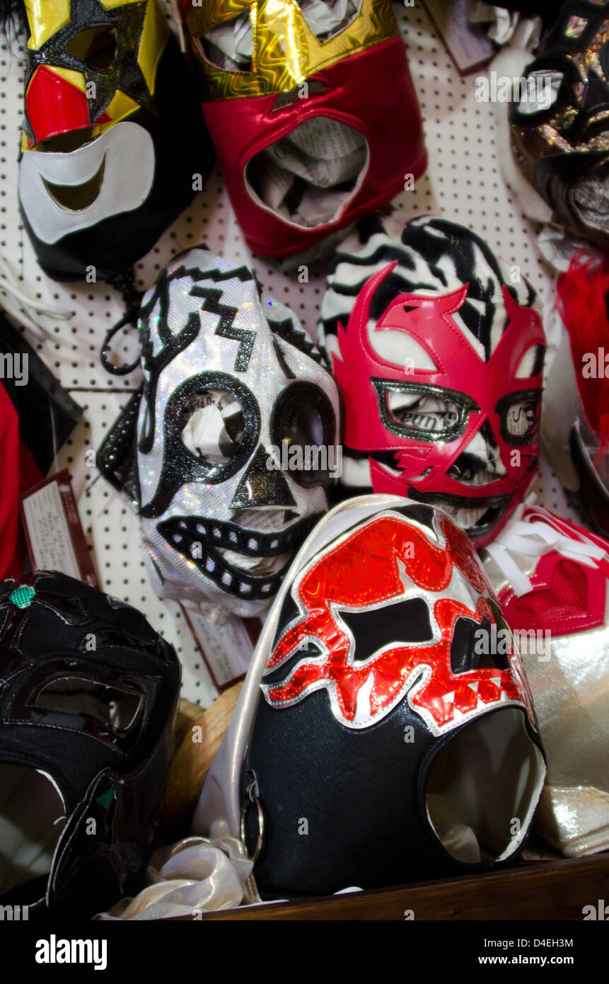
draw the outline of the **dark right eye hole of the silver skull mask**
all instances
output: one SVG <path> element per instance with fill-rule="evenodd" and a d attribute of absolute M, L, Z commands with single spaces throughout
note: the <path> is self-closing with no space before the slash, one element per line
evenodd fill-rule
<path fill-rule="evenodd" d="M 274 406 L 271 432 L 281 467 L 299 485 L 327 484 L 335 471 L 335 412 L 312 383 L 288 386 Z"/>

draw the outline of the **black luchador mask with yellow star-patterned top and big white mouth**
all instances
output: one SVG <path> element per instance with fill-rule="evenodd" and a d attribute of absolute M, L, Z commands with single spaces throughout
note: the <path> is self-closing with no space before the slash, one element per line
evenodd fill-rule
<path fill-rule="evenodd" d="M 50 277 L 121 273 L 212 166 L 188 66 L 156 0 L 35 0 L 28 18 L 19 196 L 33 247 Z"/>

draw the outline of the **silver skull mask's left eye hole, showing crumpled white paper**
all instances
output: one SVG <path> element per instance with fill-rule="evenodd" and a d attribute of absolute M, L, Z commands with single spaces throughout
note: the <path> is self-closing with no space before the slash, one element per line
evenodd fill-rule
<path fill-rule="evenodd" d="M 243 442 L 241 403 L 226 390 L 202 390 L 190 397 L 180 415 L 182 441 L 197 461 L 226 464 Z"/>

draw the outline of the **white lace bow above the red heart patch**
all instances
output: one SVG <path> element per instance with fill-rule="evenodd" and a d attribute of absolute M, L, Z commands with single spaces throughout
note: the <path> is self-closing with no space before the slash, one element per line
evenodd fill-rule
<path fill-rule="evenodd" d="M 527 594 L 532 590 L 532 584 L 525 574 L 520 571 L 518 561 L 514 554 L 525 557 L 542 557 L 544 554 L 555 550 L 570 560 L 578 561 L 586 567 L 596 567 L 596 562 L 606 556 L 606 551 L 599 547 L 587 537 L 576 540 L 566 533 L 557 529 L 553 525 L 553 517 L 547 510 L 540 506 L 535 507 L 535 517 L 547 518 L 547 522 L 534 522 L 522 520 L 524 510 L 531 507 L 535 501 L 535 496 L 520 503 L 518 509 L 505 529 L 500 533 L 494 543 L 490 543 L 485 550 L 493 558 L 502 574 L 508 579 L 518 597 Z M 583 533 L 578 533 L 583 537 Z"/>

